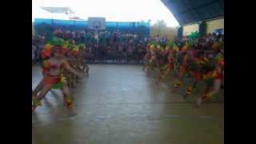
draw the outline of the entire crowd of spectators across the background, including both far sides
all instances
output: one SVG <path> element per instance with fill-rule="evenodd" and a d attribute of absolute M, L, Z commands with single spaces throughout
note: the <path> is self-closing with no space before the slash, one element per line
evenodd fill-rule
<path fill-rule="evenodd" d="M 54 30 L 53 34 L 65 40 L 73 39 L 76 43 L 85 44 L 88 63 L 142 63 L 149 42 L 158 42 L 163 47 L 169 42 L 166 37 L 140 38 L 137 34 L 122 33 L 118 30 L 95 33 L 94 31 L 63 31 L 58 29 Z M 190 41 L 190 38 L 174 39 L 177 46 L 181 46 L 187 41 Z M 216 41 L 224 42 L 224 35 L 208 34 L 193 40 L 197 47 L 210 47 L 212 42 Z M 32 38 L 33 62 L 40 62 L 40 52 L 45 42 L 46 38 L 43 36 Z"/>

